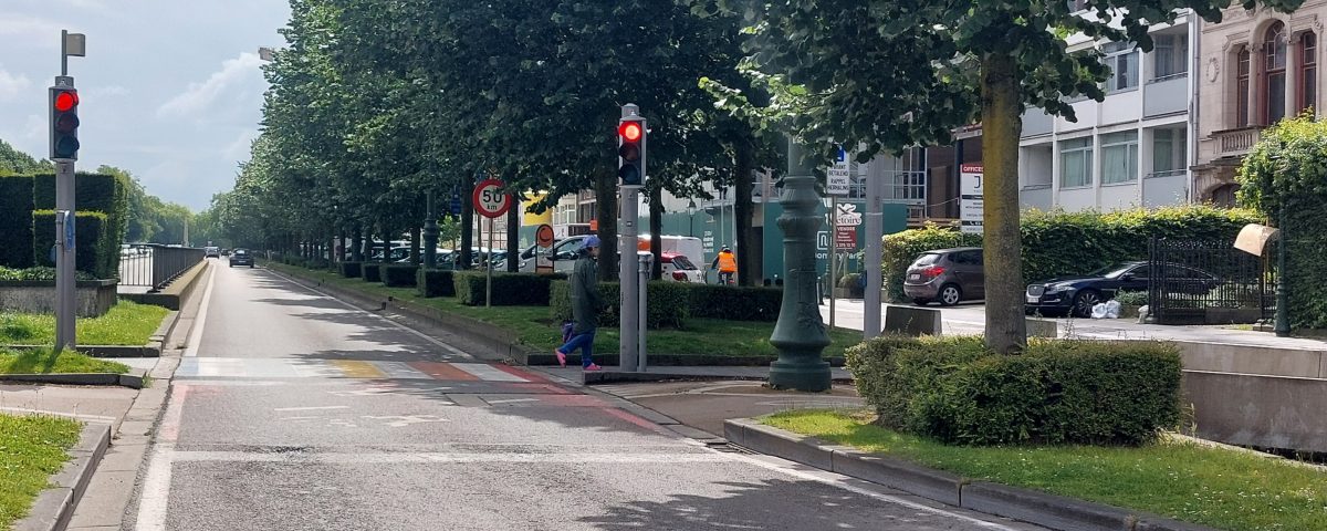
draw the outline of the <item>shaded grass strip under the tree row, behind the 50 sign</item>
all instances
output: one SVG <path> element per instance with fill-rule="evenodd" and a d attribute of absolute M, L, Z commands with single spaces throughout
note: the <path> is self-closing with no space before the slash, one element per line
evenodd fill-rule
<path fill-rule="evenodd" d="M 425 299 L 414 288 L 387 288 L 380 283 L 366 283 L 362 279 L 346 279 L 330 271 L 296 268 L 271 262 L 265 267 L 316 279 L 324 284 L 409 300 L 494 324 L 515 332 L 520 344 L 536 350 L 552 350 L 561 344 L 561 332 L 553 324 L 548 307 L 467 307 L 460 304 L 456 297 Z M 774 357 L 778 353 L 770 344 L 770 333 L 772 332 L 774 323 L 690 317 L 682 331 L 650 331 L 648 339 L 650 352 L 661 354 Z M 843 357 L 844 348 L 861 342 L 861 331 L 833 328 L 829 332 L 829 340 L 831 344 L 825 348 L 824 356 Z M 594 352 L 617 352 L 618 341 L 617 328 L 601 328 L 594 336 Z"/>

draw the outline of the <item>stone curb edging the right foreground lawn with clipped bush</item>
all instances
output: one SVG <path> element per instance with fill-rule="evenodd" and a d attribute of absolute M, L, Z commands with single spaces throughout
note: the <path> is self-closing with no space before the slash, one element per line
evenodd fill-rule
<path fill-rule="evenodd" d="M 723 422 L 736 446 L 816 469 L 882 485 L 945 504 L 1013 518 L 1063 531 L 1216 531 L 1104 503 L 1010 487 L 918 466 L 906 461 L 825 443 L 815 437 L 750 418 Z"/>

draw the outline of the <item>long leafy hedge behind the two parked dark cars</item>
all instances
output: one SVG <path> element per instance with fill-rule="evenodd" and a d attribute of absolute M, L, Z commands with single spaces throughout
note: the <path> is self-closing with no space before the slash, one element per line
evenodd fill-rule
<path fill-rule="evenodd" d="M 1251 210 L 1186 204 L 1109 212 L 1023 212 L 1023 281 L 1083 275 L 1120 262 L 1147 260 L 1153 238 L 1234 243 Z M 885 236 L 882 269 L 893 301 L 904 301 L 904 275 L 917 255 L 938 248 L 981 247 L 981 235 L 928 224 Z"/>

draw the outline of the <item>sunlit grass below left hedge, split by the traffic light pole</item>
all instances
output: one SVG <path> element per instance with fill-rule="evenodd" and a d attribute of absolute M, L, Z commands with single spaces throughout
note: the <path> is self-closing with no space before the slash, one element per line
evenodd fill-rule
<path fill-rule="evenodd" d="M 169 313 L 166 308 L 119 301 L 101 317 L 78 319 L 80 345 L 142 345 Z M 53 345 L 56 316 L 0 313 L 0 345 Z"/>

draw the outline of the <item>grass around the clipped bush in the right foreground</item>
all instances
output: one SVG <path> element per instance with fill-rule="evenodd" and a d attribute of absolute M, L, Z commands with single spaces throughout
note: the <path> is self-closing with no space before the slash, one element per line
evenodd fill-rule
<path fill-rule="evenodd" d="M 799 410 L 763 421 L 973 479 L 1153 512 L 1222 530 L 1327 530 L 1327 471 L 1164 438 L 1143 447 L 947 446 L 865 413 Z"/>

